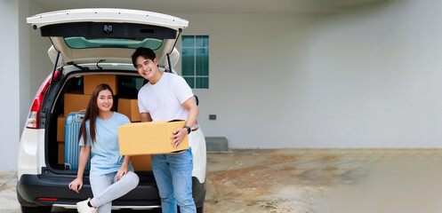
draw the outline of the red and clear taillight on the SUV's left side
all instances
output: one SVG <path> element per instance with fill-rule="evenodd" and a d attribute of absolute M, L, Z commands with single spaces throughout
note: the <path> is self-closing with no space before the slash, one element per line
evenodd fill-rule
<path fill-rule="evenodd" d="M 57 78 L 59 76 L 59 70 L 55 70 L 55 74 L 53 78 Z M 28 129 L 38 129 L 40 122 L 40 110 L 42 109 L 44 92 L 49 87 L 49 83 L 51 83 L 52 73 L 46 77 L 43 84 L 40 86 L 40 89 L 36 92 L 36 97 L 32 102 L 31 110 L 28 115 L 28 121 L 26 122 L 26 127 Z"/>

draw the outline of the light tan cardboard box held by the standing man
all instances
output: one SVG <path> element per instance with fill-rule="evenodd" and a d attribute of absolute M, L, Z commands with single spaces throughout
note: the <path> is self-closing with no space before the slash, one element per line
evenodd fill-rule
<path fill-rule="evenodd" d="M 172 146 L 173 130 L 182 128 L 185 121 L 133 122 L 118 127 L 121 155 L 181 153 L 189 149 L 186 136 L 181 145 Z"/>

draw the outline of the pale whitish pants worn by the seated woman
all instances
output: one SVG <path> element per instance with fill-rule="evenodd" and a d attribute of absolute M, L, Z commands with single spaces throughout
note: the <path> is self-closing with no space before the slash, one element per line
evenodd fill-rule
<path fill-rule="evenodd" d="M 117 181 L 117 172 L 95 177 L 91 180 L 92 203 L 98 213 L 110 213 L 112 201 L 129 193 L 138 185 L 140 178 L 133 171 L 127 172 Z"/>

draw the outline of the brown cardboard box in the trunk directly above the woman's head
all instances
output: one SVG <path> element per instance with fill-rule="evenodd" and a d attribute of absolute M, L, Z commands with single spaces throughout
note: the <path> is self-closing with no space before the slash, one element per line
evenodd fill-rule
<path fill-rule="evenodd" d="M 117 95 L 117 75 L 84 75 L 83 80 L 85 95 L 92 95 L 92 91 L 101 83 L 108 84 Z"/>

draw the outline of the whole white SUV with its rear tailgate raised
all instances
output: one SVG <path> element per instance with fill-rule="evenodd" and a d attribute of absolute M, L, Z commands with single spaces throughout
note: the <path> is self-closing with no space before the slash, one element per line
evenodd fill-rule
<path fill-rule="evenodd" d="M 28 24 L 40 28 L 41 35 L 51 40 L 48 53 L 54 68 L 36 92 L 20 138 L 17 197 L 22 212 L 51 212 L 52 206 L 75 208 L 77 201 L 92 197 L 92 191 L 87 170 L 81 192 L 68 189 L 68 183 L 76 178 L 76 169 L 65 166 L 64 156 L 69 150 L 63 148 L 64 121 L 69 113 L 85 108 L 86 77 L 93 76 L 98 79 L 95 83 L 103 83 L 110 76 L 116 86 L 115 106 L 117 111 L 118 107 L 123 110 L 118 101 L 129 99 L 136 103 L 137 93 L 145 83 L 132 65 L 133 51 L 149 47 L 156 51 L 160 69 L 176 74 L 173 66 L 179 52 L 174 45 L 189 22 L 156 12 L 78 9 L 37 14 L 28 18 Z M 137 113 L 132 110 L 134 117 Z M 197 211 L 202 212 L 205 137 L 197 124 L 191 134 L 193 196 Z M 140 184 L 113 201 L 113 209 L 161 207 L 149 158 L 144 159 L 146 162 L 138 162 L 138 167 L 133 162 Z"/>

